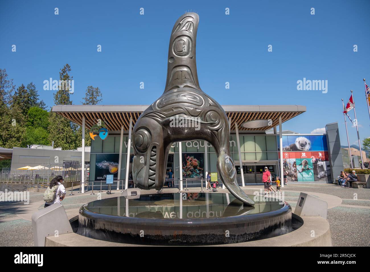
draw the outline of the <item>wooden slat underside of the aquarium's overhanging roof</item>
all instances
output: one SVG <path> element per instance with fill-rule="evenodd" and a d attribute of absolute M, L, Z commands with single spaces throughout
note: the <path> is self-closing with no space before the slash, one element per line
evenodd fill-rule
<path fill-rule="evenodd" d="M 235 123 L 238 123 L 239 131 L 265 131 L 272 129 L 279 125 L 279 117 L 282 117 L 282 122 L 286 122 L 289 119 L 299 115 L 302 112 L 226 112 L 226 115 L 231 117 L 231 130 L 235 130 Z M 120 131 L 121 126 L 124 130 L 128 130 L 130 117 L 132 117 L 132 123 L 135 125 L 141 112 L 58 112 L 59 115 L 71 120 L 72 122 L 82 126 L 82 117 L 85 116 L 85 127 L 86 129 L 91 128 L 96 124 L 98 119 L 105 122 L 108 130 Z M 259 128 L 245 128 L 240 126 L 242 123 L 260 119 L 271 119 L 272 125 Z"/>

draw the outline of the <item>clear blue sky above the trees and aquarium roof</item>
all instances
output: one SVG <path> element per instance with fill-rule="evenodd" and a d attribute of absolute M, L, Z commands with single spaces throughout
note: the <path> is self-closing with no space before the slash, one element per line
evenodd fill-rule
<path fill-rule="evenodd" d="M 196 59 L 204 92 L 221 105 L 304 105 L 307 112 L 283 129 L 310 133 L 339 122 L 346 145 L 341 99 L 346 103 L 351 89 L 360 138 L 370 136 L 362 81 L 370 83 L 369 7 L 368 0 L 1 0 L 0 67 L 16 86 L 34 82 L 48 106 L 53 91 L 43 90 L 43 81 L 58 80 L 65 63 L 72 68 L 73 104 L 81 104 L 89 85 L 101 89 L 104 105 L 151 104 L 164 90 L 172 27 L 193 10 L 200 17 Z M 304 77 L 327 80 L 328 92 L 297 90 Z M 349 136 L 356 144 L 355 127 Z"/>

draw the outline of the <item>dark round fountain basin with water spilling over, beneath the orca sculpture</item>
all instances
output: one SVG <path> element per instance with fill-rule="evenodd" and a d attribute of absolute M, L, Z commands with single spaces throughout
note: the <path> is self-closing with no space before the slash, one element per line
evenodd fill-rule
<path fill-rule="evenodd" d="M 284 201 L 249 196 L 245 206 L 227 193 L 153 193 L 107 198 L 81 207 L 77 233 L 142 245 L 217 245 L 271 238 L 292 231 Z"/>

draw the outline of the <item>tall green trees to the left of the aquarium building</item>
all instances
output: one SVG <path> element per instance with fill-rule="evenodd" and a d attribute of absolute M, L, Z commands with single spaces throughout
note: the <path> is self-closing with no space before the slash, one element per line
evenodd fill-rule
<path fill-rule="evenodd" d="M 59 78 L 68 82 L 73 77 L 71 67 L 65 64 L 60 69 Z M 39 100 L 33 82 L 17 89 L 8 79 L 5 69 L 0 69 L 0 146 L 6 148 L 27 147 L 27 145 L 51 145 L 62 149 L 77 149 L 81 146 L 82 127 L 64 117 L 45 110 L 43 100 Z M 101 102 L 98 87 L 88 86 L 84 105 L 97 105 Z M 68 89 L 58 87 L 54 93 L 55 105 L 72 105 Z M 91 145 L 89 132 L 85 133 L 85 146 Z M 1 167 L 1 166 L 0 166 Z"/>

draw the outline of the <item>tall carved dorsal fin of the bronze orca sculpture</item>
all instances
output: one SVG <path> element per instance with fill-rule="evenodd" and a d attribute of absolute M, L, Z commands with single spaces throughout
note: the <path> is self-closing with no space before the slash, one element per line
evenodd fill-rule
<path fill-rule="evenodd" d="M 201 90 L 195 60 L 198 24 L 198 14 L 188 12 L 176 21 L 172 29 L 168 47 L 167 80 L 164 93 L 184 87 Z"/>

